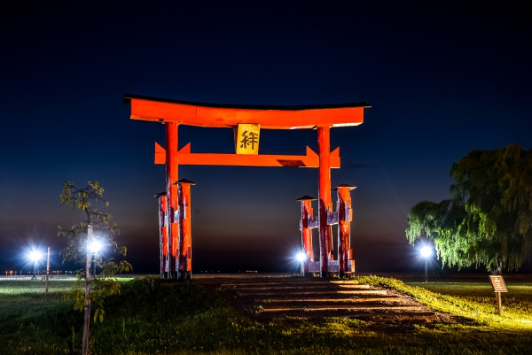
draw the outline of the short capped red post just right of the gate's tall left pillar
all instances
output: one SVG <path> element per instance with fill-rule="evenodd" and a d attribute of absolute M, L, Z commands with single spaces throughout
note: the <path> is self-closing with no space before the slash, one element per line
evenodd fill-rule
<path fill-rule="evenodd" d="M 191 213 L 191 185 L 196 182 L 181 179 L 176 181 L 178 195 L 178 225 L 179 225 L 179 253 L 178 279 L 192 279 L 192 213 Z"/>

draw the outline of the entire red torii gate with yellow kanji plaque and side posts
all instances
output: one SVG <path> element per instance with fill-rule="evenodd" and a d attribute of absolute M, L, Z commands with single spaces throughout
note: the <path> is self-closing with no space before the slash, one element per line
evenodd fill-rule
<path fill-rule="evenodd" d="M 131 105 L 131 120 L 160 122 L 166 128 L 166 150 L 155 143 L 155 164 L 166 165 L 166 191 L 160 200 L 160 274 L 188 279 L 192 276 L 192 234 L 190 186 L 178 180 L 179 165 L 213 166 L 301 166 L 317 167 L 318 218 L 312 218 L 312 197 L 301 197 L 301 240 L 307 254 L 306 273 L 327 277 L 333 271 L 348 273 L 354 268 L 349 250 L 350 185 L 338 187 L 337 211 L 332 212 L 331 168 L 340 167 L 340 148 L 331 152 L 331 127 L 358 126 L 364 122 L 367 103 L 320 104 L 298 106 L 201 104 L 157 97 L 124 95 Z M 236 154 L 192 153 L 190 143 L 177 150 L 177 127 L 231 127 L 235 130 Z M 304 156 L 259 155 L 260 129 L 317 130 L 318 153 L 307 146 Z M 242 138 L 240 141 L 239 138 Z M 242 143 L 242 144 L 239 144 Z M 347 224 L 346 224 L 347 223 Z M 332 224 L 339 225 L 338 270 L 331 267 Z M 319 228 L 319 268 L 314 263 L 310 228 Z M 347 233 L 347 234 L 346 234 Z M 310 239 L 309 239 L 310 238 Z M 347 242 L 346 242 L 347 240 Z M 351 255 L 349 255 L 351 254 Z"/>

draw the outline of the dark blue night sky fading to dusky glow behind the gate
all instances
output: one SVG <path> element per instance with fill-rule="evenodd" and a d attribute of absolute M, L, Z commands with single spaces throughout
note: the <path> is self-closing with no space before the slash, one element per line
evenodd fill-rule
<path fill-rule="evenodd" d="M 153 196 L 164 190 L 165 169 L 153 165 L 153 145 L 164 145 L 164 126 L 129 120 L 124 93 L 211 104 L 371 104 L 364 124 L 331 131 L 341 157 L 332 186 L 357 187 L 351 243 L 361 271 L 419 269 L 406 216 L 421 200 L 450 197 L 450 166 L 469 150 L 532 148 L 524 7 L 70 3 L 0 9 L 1 274 L 23 267 L 33 244 L 51 246 L 59 267 L 66 239 L 57 226 L 82 217 L 59 205 L 65 181 L 99 181 L 127 259 L 137 272 L 158 273 Z M 310 129 L 261 133 L 262 154 L 317 151 Z M 189 142 L 192 152 L 234 152 L 229 128 L 180 127 L 179 147 Z M 180 166 L 179 178 L 197 182 L 194 272 L 296 270 L 295 199 L 317 197 L 317 169 Z"/>

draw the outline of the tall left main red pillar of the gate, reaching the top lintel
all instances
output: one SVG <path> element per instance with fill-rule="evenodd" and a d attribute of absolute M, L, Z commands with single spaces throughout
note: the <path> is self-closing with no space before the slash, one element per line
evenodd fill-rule
<path fill-rule="evenodd" d="M 168 218 L 168 277 L 176 272 L 177 251 L 177 226 L 175 225 L 174 212 L 177 208 L 177 186 L 173 185 L 178 180 L 177 175 L 177 125 L 166 123 L 166 191 L 167 191 L 167 218 Z"/>

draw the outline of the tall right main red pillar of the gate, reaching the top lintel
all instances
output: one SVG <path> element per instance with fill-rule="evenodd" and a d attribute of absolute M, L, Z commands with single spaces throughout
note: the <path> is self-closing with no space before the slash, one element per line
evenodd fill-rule
<path fill-rule="evenodd" d="M 332 229 L 331 226 L 327 225 L 327 211 L 332 212 L 330 133 L 331 127 L 317 127 L 317 153 L 319 155 L 317 201 L 321 277 L 328 276 L 329 259 L 332 251 Z"/>

